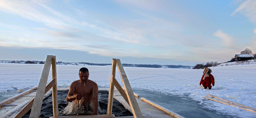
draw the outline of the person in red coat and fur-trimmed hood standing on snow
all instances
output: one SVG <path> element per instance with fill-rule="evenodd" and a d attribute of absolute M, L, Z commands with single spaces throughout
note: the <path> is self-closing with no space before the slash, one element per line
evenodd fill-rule
<path fill-rule="evenodd" d="M 204 75 L 201 78 L 200 84 L 199 85 L 203 85 L 204 89 L 207 89 L 207 87 L 209 89 L 212 89 L 212 86 L 214 86 L 214 78 L 212 76 L 212 74 L 210 74 L 212 72 L 211 69 L 209 68 L 204 68 Z M 212 84 L 212 86 L 211 86 Z"/>

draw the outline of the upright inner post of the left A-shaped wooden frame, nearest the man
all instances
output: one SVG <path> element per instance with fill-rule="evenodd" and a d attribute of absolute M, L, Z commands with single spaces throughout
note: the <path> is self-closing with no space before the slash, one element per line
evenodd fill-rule
<path fill-rule="evenodd" d="M 52 56 L 52 79 L 55 80 L 55 85 L 52 86 L 52 109 L 53 116 L 59 116 L 58 108 L 58 91 L 57 91 L 57 67 L 56 67 L 56 56 Z"/>

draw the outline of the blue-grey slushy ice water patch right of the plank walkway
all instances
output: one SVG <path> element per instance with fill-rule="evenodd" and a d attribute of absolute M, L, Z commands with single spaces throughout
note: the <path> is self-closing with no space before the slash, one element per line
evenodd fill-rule
<path fill-rule="evenodd" d="M 186 96 L 180 97 L 172 94 L 143 90 L 133 90 L 133 92 L 185 118 L 237 118 L 235 116 L 221 114 L 216 110 L 204 108 L 204 104 L 200 104 L 200 102 Z"/>

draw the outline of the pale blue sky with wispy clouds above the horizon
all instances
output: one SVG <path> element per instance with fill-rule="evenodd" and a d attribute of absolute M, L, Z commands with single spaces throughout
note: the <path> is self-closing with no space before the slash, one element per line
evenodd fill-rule
<path fill-rule="evenodd" d="M 256 53 L 256 0 L 0 0 L 0 60 L 191 65 Z"/>

